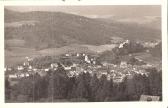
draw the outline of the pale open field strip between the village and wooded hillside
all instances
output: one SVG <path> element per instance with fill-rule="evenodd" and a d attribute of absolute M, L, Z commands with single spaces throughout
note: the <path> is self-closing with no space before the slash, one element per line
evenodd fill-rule
<path fill-rule="evenodd" d="M 59 56 L 65 53 L 95 53 L 89 50 L 88 47 L 81 45 L 70 45 L 61 48 L 48 48 L 44 50 L 35 50 L 33 48 L 10 47 L 10 50 L 5 50 L 5 65 L 13 66 L 25 60 L 25 57 L 39 57 L 39 56 Z"/>

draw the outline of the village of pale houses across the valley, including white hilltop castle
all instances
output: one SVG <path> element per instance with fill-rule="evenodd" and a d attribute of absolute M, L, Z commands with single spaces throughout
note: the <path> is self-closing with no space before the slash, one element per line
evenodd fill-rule
<path fill-rule="evenodd" d="M 119 48 L 122 48 L 126 43 L 129 43 L 129 41 L 126 40 L 121 43 Z M 56 71 L 58 63 L 60 63 L 68 77 L 78 77 L 81 73 L 88 72 L 91 76 L 96 74 L 100 78 L 102 75 L 105 75 L 107 76 L 107 80 L 112 79 L 115 83 L 121 83 L 125 77 L 132 78 L 136 74 L 148 76 L 149 73 L 145 69 L 154 67 L 154 65 L 144 63 L 139 58 L 134 59 L 141 65 L 129 64 L 128 60 L 125 59 L 121 60 L 119 64 L 107 61 L 99 62 L 97 58 L 97 55 L 87 53 L 66 53 L 60 56 L 60 61 L 52 62 L 48 67 L 36 68 L 32 65 L 33 58 L 25 57 L 25 61 L 16 67 L 6 66 L 5 76 L 11 82 L 12 80 L 29 77 L 37 73 L 43 77 L 49 71 Z"/>

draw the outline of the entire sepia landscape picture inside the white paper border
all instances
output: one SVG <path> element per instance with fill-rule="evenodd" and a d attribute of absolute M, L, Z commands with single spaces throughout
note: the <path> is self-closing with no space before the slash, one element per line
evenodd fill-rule
<path fill-rule="evenodd" d="M 5 103 L 162 101 L 161 5 L 4 6 Z"/>

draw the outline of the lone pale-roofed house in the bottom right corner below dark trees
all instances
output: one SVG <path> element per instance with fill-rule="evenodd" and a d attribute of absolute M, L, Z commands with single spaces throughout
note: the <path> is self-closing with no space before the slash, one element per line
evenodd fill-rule
<path fill-rule="evenodd" d="M 140 101 L 159 101 L 160 96 L 141 95 Z"/>

